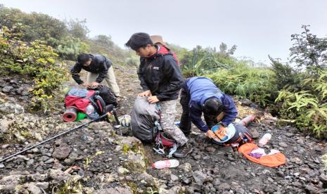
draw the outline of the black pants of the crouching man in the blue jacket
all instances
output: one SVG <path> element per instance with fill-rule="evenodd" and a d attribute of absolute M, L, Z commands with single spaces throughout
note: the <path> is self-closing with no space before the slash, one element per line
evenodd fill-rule
<path fill-rule="evenodd" d="M 184 82 L 181 87 L 181 108 L 183 112 L 181 113 L 181 123 L 179 124 L 179 129 L 183 131 L 184 134 L 188 135 L 191 133 L 191 118 L 190 118 L 190 109 L 188 103 L 190 102 L 191 95 L 188 92 L 187 88 L 188 79 Z M 207 123 L 207 127 L 211 129 L 214 124 L 217 123 L 217 117 L 205 115 L 205 122 Z"/>

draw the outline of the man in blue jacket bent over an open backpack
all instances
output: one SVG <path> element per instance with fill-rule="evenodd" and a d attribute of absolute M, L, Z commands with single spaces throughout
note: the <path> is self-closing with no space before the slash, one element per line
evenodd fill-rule
<path fill-rule="evenodd" d="M 211 128 L 218 122 L 226 127 L 238 114 L 233 99 L 217 88 L 207 77 L 191 77 L 181 87 L 181 122 L 179 129 L 191 133 L 191 122 L 210 138 L 215 138 Z M 205 122 L 201 119 L 204 113 Z"/>

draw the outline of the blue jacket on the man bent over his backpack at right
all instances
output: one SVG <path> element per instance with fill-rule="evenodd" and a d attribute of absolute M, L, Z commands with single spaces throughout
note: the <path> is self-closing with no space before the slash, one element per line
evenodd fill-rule
<path fill-rule="evenodd" d="M 222 124 L 230 124 L 237 115 L 236 106 L 233 99 L 224 94 L 211 79 L 207 77 L 192 77 L 188 79 L 187 91 L 189 93 L 190 102 L 188 103 L 191 121 L 198 129 L 203 132 L 207 132 L 208 127 L 201 119 L 203 112 L 203 104 L 208 98 L 217 98 L 222 101 L 224 106 L 223 111 L 225 113 Z"/>

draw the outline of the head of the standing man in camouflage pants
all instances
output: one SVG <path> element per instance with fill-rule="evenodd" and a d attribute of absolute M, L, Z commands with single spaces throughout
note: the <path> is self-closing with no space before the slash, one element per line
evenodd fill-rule
<path fill-rule="evenodd" d="M 153 54 L 153 42 L 150 35 L 144 32 L 135 33 L 127 41 L 125 46 L 132 48 L 138 56 L 148 57 Z"/>

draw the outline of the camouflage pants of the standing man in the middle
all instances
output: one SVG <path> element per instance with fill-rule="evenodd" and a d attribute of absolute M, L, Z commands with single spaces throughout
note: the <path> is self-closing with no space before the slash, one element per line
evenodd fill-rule
<path fill-rule="evenodd" d="M 160 125 L 162 131 L 170 138 L 173 138 L 174 141 L 177 141 L 179 145 L 184 145 L 188 141 L 188 138 L 186 138 L 181 129 L 174 124 L 175 115 L 177 113 L 177 100 L 162 101 L 159 102 L 159 104 L 161 106 Z"/>

